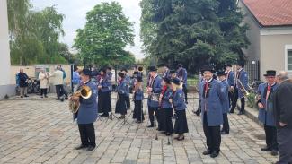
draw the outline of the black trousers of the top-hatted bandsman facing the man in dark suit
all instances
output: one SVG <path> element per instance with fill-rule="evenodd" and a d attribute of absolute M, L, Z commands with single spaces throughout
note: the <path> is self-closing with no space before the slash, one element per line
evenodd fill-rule
<path fill-rule="evenodd" d="M 277 129 L 275 126 L 264 125 L 266 144 L 268 148 L 278 151 Z"/>

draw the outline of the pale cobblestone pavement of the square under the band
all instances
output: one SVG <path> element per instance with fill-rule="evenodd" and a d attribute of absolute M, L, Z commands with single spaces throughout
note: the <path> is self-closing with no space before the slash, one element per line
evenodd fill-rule
<path fill-rule="evenodd" d="M 79 133 L 67 101 L 0 101 L 0 163 L 253 164 L 277 160 L 260 151 L 264 146 L 261 126 L 237 115 L 229 115 L 231 133 L 222 137 L 220 155 L 216 159 L 203 156 L 206 148 L 202 125 L 199 117 L 191 113 L 197 103 L 198 99 L 189 102 L 190 133 L 182 142 L 170 139 L 168 145 L 168 138 L 161 133 L 155 140 L 156 131 L 146 128 L 147 119 L 137 130 L 131 116 L 128 122 L 132 125 L 102 118 L 95 123 L 97 148 L 86 152 L 74 150 L 80 144 Z"/>

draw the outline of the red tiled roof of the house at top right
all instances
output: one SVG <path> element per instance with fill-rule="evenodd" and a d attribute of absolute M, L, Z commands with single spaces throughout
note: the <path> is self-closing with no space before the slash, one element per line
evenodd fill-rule
<path fill-rule="evenodd" d="M 292 0 L 242 0 L 261 26 L 292 26 Z"/>

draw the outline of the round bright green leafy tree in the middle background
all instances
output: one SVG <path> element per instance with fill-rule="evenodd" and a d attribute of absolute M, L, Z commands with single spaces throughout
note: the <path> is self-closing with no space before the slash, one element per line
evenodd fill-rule
<path fill-rule="evenodd" d="M 134 45 L 133 23 L 116 2 L 97 4 L 86 14 L 84 29 L 77 30 L 74 47 L 84 65 L 119 65 L 128 60 L 123 50 Z"/>

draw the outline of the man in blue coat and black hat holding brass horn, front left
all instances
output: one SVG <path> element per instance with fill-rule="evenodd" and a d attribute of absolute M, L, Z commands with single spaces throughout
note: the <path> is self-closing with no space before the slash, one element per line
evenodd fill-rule
<path fill-rule="evenodd" d="M 93 151 L 95 144 L 95 132 L 93 123 L 97 119 L 97 87 L 90 79 L 91 71 L 84 69 L 80 73 L 81 84 L 78 87 L 81 95 L 74 94 L 70 97 L 71 101 L 79 102 L 79 108 L 75 113 L 80 133 L 81 145 L 75 150 L 85 149 Z M 84 90 L 84 88 L 88 88 Z"/>

